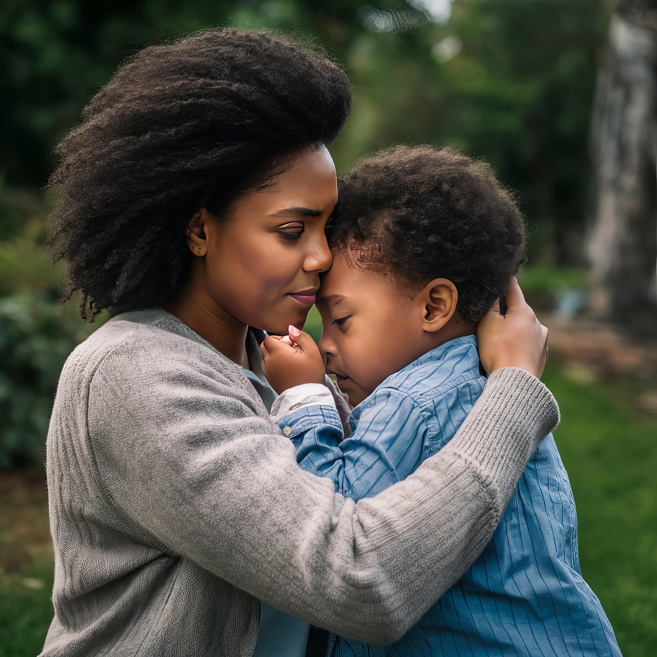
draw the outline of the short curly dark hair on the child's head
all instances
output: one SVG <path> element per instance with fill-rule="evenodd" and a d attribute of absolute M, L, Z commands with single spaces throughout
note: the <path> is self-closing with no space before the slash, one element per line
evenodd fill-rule
<path fill-rule="evenodd" d="M 450 148 L 396 146 L 338 181 L 331 248 L 355 266 L 422 286 L 452 281 L 479 321 L 525 261 L 524 220 L 491 167 Z"/>

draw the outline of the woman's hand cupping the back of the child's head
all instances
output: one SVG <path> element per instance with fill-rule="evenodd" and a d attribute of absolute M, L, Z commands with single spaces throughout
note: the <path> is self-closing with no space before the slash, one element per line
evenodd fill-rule
<path fill-rule="evenodd" d="M 501 367 L 521 367 L 541 378 L 547 360 L 547 328 L 527 305 L 516 277 L 505 290 L 507 313 L 499 300 L 477 327 L 479 357 L 487 374 Z"/>

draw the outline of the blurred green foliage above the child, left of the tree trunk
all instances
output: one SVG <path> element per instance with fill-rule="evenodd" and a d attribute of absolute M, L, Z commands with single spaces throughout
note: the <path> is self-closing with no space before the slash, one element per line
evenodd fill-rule
<path fill-rule="evenodd" d="M 346 164 L 405 141 L 482 157 L 519 191 L 530 259 L 581 263 L 605 25 L 600 0 L 462 0 L 446 25 L 358 35 L 346 57 L 355 82 Z"/>

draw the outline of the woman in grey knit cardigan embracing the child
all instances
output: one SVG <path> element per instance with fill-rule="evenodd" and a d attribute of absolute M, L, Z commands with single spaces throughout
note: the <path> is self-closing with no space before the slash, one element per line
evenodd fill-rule
<path fill-rule="evenodd" d="M 135 310 L 60 378 L 43 654 L 251 655 L 260 600 L 393 641 L 476 558 L 555 426 L 533 376 L 547 333 L 510 288 L 482 323 L 486 390 L 439 455 L 357 504 L 296 465 L 258 342 L 302 326 L 330 267 L 325 143 L 350 103 L 323 55 L 209 30 L 138 53 L 60 145 L 49 241 L 68 294 L 87 319 Z"/>

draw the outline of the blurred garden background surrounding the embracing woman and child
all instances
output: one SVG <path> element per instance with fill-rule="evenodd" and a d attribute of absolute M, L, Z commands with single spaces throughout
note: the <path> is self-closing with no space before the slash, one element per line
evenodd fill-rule
<path fill-rule="evenodd" d="M 45 435 L 66 355 L 103 320 L 55 303 L 53 147 L 126 55 L 220 24 L 294 29 L 344 64 L 338 171 L 448 144 L 518 191 L 583 575 L 624 654 L 657 654 L 657 0 L 364 1 L 3 0 L 0 655 L 39 652 L 52 618 Z"/>

